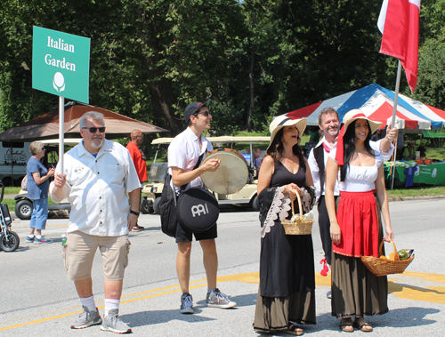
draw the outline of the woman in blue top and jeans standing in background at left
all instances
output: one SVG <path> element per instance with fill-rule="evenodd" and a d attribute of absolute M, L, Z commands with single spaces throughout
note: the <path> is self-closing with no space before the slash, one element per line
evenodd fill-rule
<path fill-rule="evenodd" d="M 54 176 L 55 170 L 52 168 L 48 171 L 40 162 L 44 157 L 44 144 L 41 141 L 29 144 L 29 151 L 32 156 L 27 165 L 28 198 L 32 200 L 33 211 L 27 242 L 47 244 L 52 241 L 42 236 L 42 229 L 45 228 L 48 219 L 48 179 Z"/>

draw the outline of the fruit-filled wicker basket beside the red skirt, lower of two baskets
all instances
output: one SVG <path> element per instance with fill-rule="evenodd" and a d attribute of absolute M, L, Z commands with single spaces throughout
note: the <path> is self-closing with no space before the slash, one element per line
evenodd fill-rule
<path fill-rule="evenodd" d="M 394 243 L 391 241 L 394 252 L 384 256 L 384 241 L 381 242 L 378 253 L 380 257 L 362 256 L 361 261 L 376 277 L 384 277 L 389 274 L 401 274 L 413 261 L 413 250 L 401 249 L 397 251 Z"/>

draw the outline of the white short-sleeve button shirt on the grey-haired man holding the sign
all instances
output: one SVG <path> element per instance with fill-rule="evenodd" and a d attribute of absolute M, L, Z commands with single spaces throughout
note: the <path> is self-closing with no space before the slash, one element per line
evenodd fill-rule
<path fill-rule="evenodd" d="M 82 140 L 63 158 L 63 173 L 67 175 L 65 197 L 71 205 L 68 232 L 80 230 L 100 237 L 128 234 L 127 193 L 141 187 L 128 150 L 117 142 L 104 140 L 94 157 Z M 64 197 L 55 197 L 53 187 L 52 182 L 53 201 L 61 202 Z"/>

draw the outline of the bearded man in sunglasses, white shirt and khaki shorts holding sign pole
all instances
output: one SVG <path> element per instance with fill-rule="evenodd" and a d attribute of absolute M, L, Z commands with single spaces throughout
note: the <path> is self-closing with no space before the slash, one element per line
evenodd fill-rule
<path fill-rule="evenodd" d="M 83 140 L 65 155 L 63 175 L 58 164 L 50 186 L 54 202 L 68 197 L 71 204 L 63 255 L 68 278 L 74 281 L 84 309 L 71 328 L 102 324 L 101 330 L 130 333 L 118 308 L 130 250 L 128 232 L 139 216 L 141 184 L 128 150 L 105 139 L 101 113 L 85 113 L 79 125 Z M 103 321 L 94 303 L 91 277 L 98 248 L 104 272 Z"/>

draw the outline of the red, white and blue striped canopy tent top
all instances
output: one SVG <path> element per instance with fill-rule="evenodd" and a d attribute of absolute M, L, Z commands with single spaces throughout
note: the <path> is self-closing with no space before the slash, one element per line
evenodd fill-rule
<path fill-rule="evenodd" d="M 305 108 L 287 113 L 290 118 L 308 118 L 308 125 L 318 125 L 321 109 L 335 108 L 343 122 L 344 115 L 353 108 L 360 108 L 368 118 L 382 122 L 382 128 L 391 122 L 394 92 L 378 84 L 344 93 L 329 100 L 323 100 Z M 399 94 L 396 124 L 399 129 L 428 130 L 441 129 L 445 122 L 445 111 L 433 108 L 417 100 Z"/>

